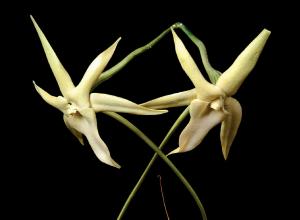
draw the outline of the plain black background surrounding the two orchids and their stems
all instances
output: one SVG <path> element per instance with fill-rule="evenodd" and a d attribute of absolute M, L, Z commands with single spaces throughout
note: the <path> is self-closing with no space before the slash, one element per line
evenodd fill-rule
<path fill-rule="evenodd" d="M 224 161 L 221 153 L 220 126 L 195 150 L 170 159 L 198 193 L 208 219 L 279 218 L 283 206 L 289 204 L 283 197 L 289 194 L 288 187 L 281 181 L 289 181 L 289 164 L 294 162 L 286 153 L 291 152 L 291 145 L 281 141 L 285 128 L 279 126 L 285 120 L 281 114 L 287 102 L 282 90 L 289 87 L 281 81 L 280 74 L 286 68 L 279 62 L 287 54 L 280 51 L 290 43 L 283 39 L 291 24 L 283 14 L 289 11 L 274 3 L 264 6 L 254 2 L 173 2 L 167 7 L 156 2 L 62 4 L 25 2 L 12 7 L 12 13 L 3 20 L 12 22 L 3 34 L 8 37 L 4 47 L 9 48 L 4 63 L 9 78 L 4 87 L 10 86 L 3 92 L 3 102 L 9 106 L 5 110 L 9 111 L 2 119 L 8 122 L 4 139 L 9 144 L 1 155 L 5 184 L 2 198 L 11 218 L 116 219 L 153 154 L 131 131 L 101 113 L 99 133 L 122 169 L 99 162 L 87 142 L 83 147 L 78 143 L 66 129 L 62 114 L 47 105 L 32 85 L 35 80 L 49 93 L 59 95 L 29 14 L 35 17 L 75 84 L 91 61 L 119 36 L 122 40 L 108 68 L 180 21 L 205 43 L 212 65 L 224 71 L 263 28 L 271 30 L 255 69 L 235 96 L 243 107 L 243 119 L 228 160 Z M 180 31 L 177 33 L 205 73 L 197 48 Z M 168 34 L 95 91 L 140 103 L 190 88 L 192 83 L 178 63 Z M 171 109 L 161 116 L 123 115 L 158 144 L 182 110 Z M 177 146 L 187 121 L 165 152 Z M 188 191 L 160 160 L 124 219 L 166 219 L 158 175 L 162 177 L 170 218 L 201 219 Z"/>

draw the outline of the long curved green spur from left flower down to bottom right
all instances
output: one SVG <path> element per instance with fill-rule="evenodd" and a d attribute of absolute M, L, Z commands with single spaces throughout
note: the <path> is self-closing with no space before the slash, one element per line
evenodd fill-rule
<path fill-rule="evenodd" d="M 127 119 L 122 117 L 121 115 L 115 113 L 115 112 L 104 112 L 105 114 L 109 115 L 110 117 L 118 120 L 122 124 L 124 124 L 126 127 L 128 127 L 131 131 L 133 131 L 137 136 L 139 136 L 146 144 L 149 145 L 149 147 L 154 150 L 158 156 L 172 169 L 172 171 L 176 174 L 176 176 L 181 180 L 181 182 L 185 185 L 187 190 L 190 192 L 192 197 L 194 198 L 196 204 L 198 205 L 202 219 L 207 220 L 206 213 L 204 210 L 204 207 L 198 198 L 195 190 L 192 188 L 192 186 L 189 184 L 189 182 L 185 179 L 185 177 L 181 174 L 181 172 L 176 168 L 176 166 L 172 163 L 172 161 L 169 160 L 169 158 L 157 147 L 156 144 L 153 143 L 141 130 L 139 130 L 135 125 L 133 125 L 131 122 L 129 122 Z M 133 196 L 133 195 L 130 195 Z M 126 209 L 119 214 L 118 220 L 122 218 L 124 215 Z"/>

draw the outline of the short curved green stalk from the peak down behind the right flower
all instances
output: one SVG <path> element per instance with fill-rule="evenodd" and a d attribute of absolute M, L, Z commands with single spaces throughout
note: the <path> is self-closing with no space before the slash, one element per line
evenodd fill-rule
<path fill-rule="evenodd" d="M 216 84 L 218 78 L 221 75 L 221 72 L 211 66 L 211 64 L 208 60 L 207 50 L 206 50 L 204 43 L 201 40 L 199 40 L 184 24 L 181 24 L 178 27 L 190 38 L 190 40 L 194 44 L 196 44 L 196 46 L 198 47 L 198 49 L 200 51 L 202 63 L 205 68 L 205 71 L 207 72 L 207 74 L 209 76 L 209 79 L 213 84 Z"/>

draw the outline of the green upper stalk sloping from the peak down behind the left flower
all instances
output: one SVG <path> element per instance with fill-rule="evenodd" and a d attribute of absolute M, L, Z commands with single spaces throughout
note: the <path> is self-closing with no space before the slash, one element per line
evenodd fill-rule
<path fill-rule="evenodd" d="M 163 31 L 158 37 L 156 37 L 154 40 L 152 40 L 151 42 L 149 42 L 148 44 L 146 44 L 143 47 L 139 47 L 139 48 L 135 49 L 130 54 L 128 54 L 123 60 L 121 60 L 118 64 L 116 64 L 112 68 L 108 69 L 107 71 L 103 72 L 100 75 L 100 77 L 98 78 L 98 81 L 95 83 L 94 88 L 96 88 L 99 84 L 108 80 L 114 74 L 116 74 L 121 69 L 123 69 L 123 67 L 125 67 L 134 57 L 151 49 L 156 43 L 158 43 L 171 30 L 171 28 L 176 29 L 179 26 L 181 26 L 181 23 L 175 23 L 175 24 L 171 25 L 165 31 Z"/>

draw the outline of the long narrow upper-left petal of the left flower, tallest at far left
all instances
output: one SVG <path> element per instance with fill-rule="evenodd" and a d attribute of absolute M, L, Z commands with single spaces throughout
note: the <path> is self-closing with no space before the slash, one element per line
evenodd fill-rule
<path fill-rule="evenodd" d="M 55 79 L 58 83 L 59 89 L 63 96 L 66 96 L 67 91 L 74 88 L 72 79 L 70 78 L 68 72 L 65 70 L 61 62 L 59 61 L 58 57 L 56 56 L 54 50 L 52 49 L 51 45 L 49 44 L 46 36 L 34 20 L 34 18 L 30 15 L 30 18 L 33 22 L 33 25 L 38 33 L 38 36 L 41 40 L 42 46 L 44 48 L 48 63 L 52 69 L 52 72 L 55 76 Z"/>

